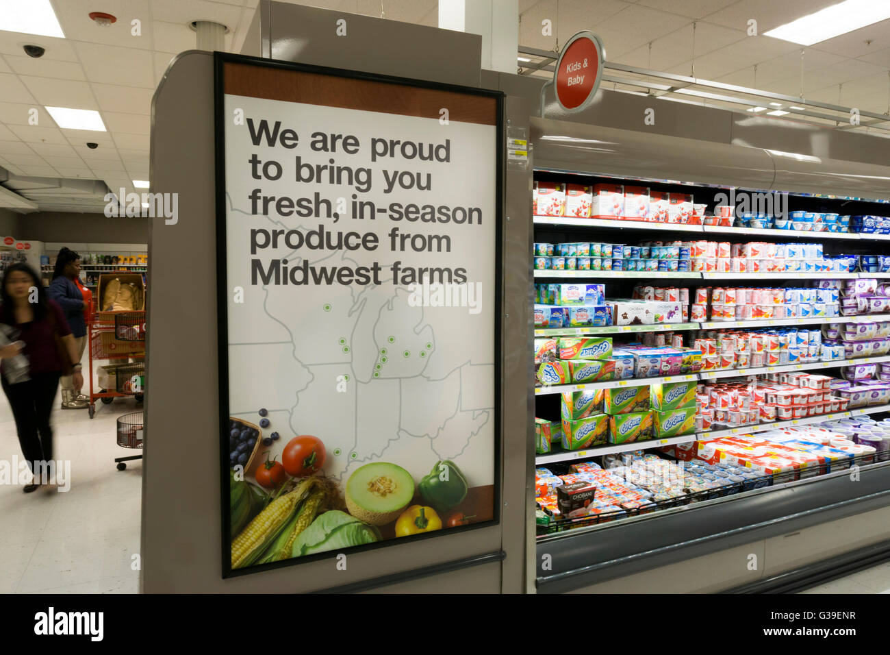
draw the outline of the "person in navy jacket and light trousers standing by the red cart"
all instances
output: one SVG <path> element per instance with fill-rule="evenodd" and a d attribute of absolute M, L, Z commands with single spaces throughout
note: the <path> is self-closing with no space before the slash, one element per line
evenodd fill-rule
<path fill-rule="evenodd" d="M 89 311 L 89 302 L 84 296 L 82 286 L 79 285 L 80 255 L 74 250 L 62 248 L 56 257 L 53 282 L 50 282 L 49 297 L 55 300 L 65 314 L 74 342 L 77 346 L 77 359 L 79 363 L 84 356 L 86 346 L 86 321 L 85 314 Z M 89 293 L 89 291 L 86 291 Z M 89 398 L 80 393 L 80 387 L 75 388 L 70 375 L 61 379 L 61 408 L 62 409 L 86 409 L 90 406 Z"/>

